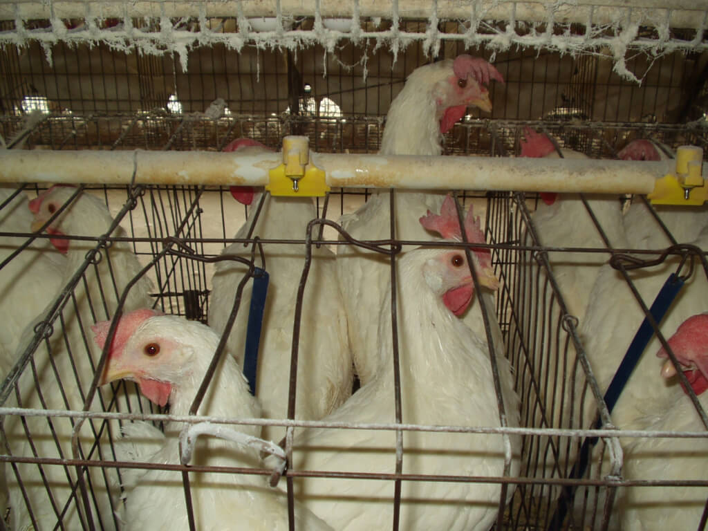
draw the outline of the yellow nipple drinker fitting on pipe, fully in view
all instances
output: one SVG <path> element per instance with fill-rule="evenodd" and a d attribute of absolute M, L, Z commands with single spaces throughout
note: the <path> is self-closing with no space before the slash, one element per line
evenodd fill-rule
<path fill-rule="evenodd" d="M 270 195 L 306 198 L 321 198 L 329 192 L 324 171 L 309 162 L 307 137 L 291 135 L 282 139 L 282 164 L 270 170 L 265 190 Z"/>

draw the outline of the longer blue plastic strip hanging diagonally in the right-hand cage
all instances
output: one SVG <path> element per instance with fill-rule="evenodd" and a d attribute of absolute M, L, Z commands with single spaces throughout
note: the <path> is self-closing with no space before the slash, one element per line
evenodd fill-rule
<path fill-rule="evenodd" d="M 664 282 L 663 287 L 659 290 L 656 299 L 651 304 L 649 308 L 649 313 L 653 317 L 656 324 L 660 324 L 663 317 L 668 312 L 671 303 L 676 298 L 681 288 L 684 285 L 684 280 L 679 278 L 677 275 L 672 273 L 669 278 Z M 644 321 L 639 325 L 639 329 L 634 334 L 634 339 L 632 343 L 629 344 L 627 348 L 627 353 L 622 358 L 622 362 L 617 367 L 617 372 L 615 372 L 615 377 L 612 378 L 610 386 L 607 387 L 607 392 L 605 392 L 605 403 L 607 404 L 607 409 L 612 413 L 612 409 L 615 409 L 617 400 L 619 400 L 620 394 L 622 394 L 622 389 L 627 384 L 629 376 L 632 375 L 632 371 L 636 364 L 639 363 L 639 358 L 641 354 L 644 353 L 644 349 L 649 345 L 649 341 L 653 338 L 654 329 L 649 324 L 649 320 L 644 318 Z M 595 421 L 593 428 L 600 428 L 600 419 Z M 580 450 L 580 455 L 578 456 L 578 461 L 573 466 L 570 479 L 578 479 L 583 477 L 586 469 L 588 468 L 588 463 L 590 462 L 590 449 L 598 443 L 597 437 L 588 437 L 583 441 L 583 446 Z M 575 497 L 576 486 L 565 485 L 561 491 L 561 496 L 558 499 L 558 506 L 556 507 L 556 512 L 551 518 L 549 523 L 549 531 L 557 531 L 561 529 L 563 525 L 563 520 L 566 518 L 568 509 L 573 504 L 573 498 Z"/>

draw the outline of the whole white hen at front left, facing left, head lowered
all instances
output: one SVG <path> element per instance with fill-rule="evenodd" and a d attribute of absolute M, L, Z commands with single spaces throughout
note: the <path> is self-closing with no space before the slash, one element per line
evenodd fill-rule
<path fill-rule="evenodd" d="M 103 347 L 109 321 L 94 326 L 96 341 Z M 217 350 L 219 336 L 208 326 L 178 316 L 137 310 L 122 316 L 103 382 L 129 378 L 157 404 L 170 405 L 173 415 L 187 415 Z M 260 409 L 249 393 L 246 379 L 234 358 L 224 353 L 198 409 L 199 415 L 223 418 L 257 418 Z M 150 457 L 158 464 L 178 464 L 179 433 L 183 423 L 168 423 L 166 441 Z M 257 437 L 260 426 L 242 425 L 241 433 Z M 258 450 L 220 438 L 201 437 L 195 444 L 193 466 L 262 468 Z M 285 496 L 268 486 L 266 476 L 190 472 L 190 495 L 195 524 L 200 530 L 285 531 Z M 178 472 L 152 469 L 137 479 L 127 492 L 125 530 L 183 530 L 188 528 L 182 476 Z M 329 530 L 314 515 L 306 518 L 296 506 L 297 529 Z"/>

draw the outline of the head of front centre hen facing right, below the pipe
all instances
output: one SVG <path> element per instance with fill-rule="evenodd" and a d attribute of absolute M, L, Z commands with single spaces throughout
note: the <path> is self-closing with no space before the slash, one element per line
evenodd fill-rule
<path fill-rule="evenodd" d="M 440 215 L 428 214 L 421 217 L 421 224 L 428 230 L 438 232 L 445 239 L 462 240 L 462 232 L 457 218 L 455 200 L 450 195 L 445 198 L 440 208 Z M 467 240 L 473 243 L 484 243 L 484 234 L 481 232 L 479 217 L 474 217 L 472 206 L 469 207 L 464 219 Z M 491 253 L 489 249 L 472 248 L 472 266 L 475 268 L 479 282 L 491 290 L 499 287 L 499 281 L 491 267 Z M 440 251 L 433 258 L 428 259 L 423 265 L 423 278 L 430 290 L 442 297 L 445 307 L 456 316 L 464 314 L 474 295 L 474 284 L 469 263 L 464 251 L 450 249 Z"/>

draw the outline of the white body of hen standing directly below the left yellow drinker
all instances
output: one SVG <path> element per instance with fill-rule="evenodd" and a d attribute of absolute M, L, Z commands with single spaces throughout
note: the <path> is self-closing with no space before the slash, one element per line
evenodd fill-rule
<path fill-rule="evenodd" d="M 316 218 L 309 198 L 268 195 L 253 236 L 261 239 L 304 239 L 307 224 Z M 253 219 L 249 216 L 236 238 L 245 238 Z M 263 244 L 265 269 L 270 275 L 265 300 L 261 345 L 256 375 L 256 396 L 266 418 L 287 418 L 292 332 L 297 290 L 305 260 L 304 244 Z M 250 258 L 251 248 L 234 243 L 223 254 Z M 261 265 L 256 253 L 256 265 Z M 209 323 L 222 331 L 234 303 L 236 287 L 246 265 L 217 263 Z M 331 413 L 351 394 L 353 369 L 348 347 L 347 321 L 340 295 L 335 255 L 326 247 L 312 246 L 309 282 L 304 292 L 299 335 L 295 418 L 317 420 Z M 229 336 L 229 351 L 244 365 L 244 346 L 253 283 L 244 287 L 241 307 Z M 326 326 L 324 326 L 326 324 Z M 285 429 L 265 426 L 263 437 L 280 440 Z"/>

